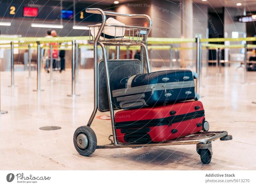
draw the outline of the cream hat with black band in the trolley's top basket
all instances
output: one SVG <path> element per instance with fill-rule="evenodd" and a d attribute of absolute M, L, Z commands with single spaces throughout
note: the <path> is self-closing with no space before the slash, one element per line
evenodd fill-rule
<path fill-rule="evenodd" d="M 97 24 L 97 25 L 101 25 L 101 24 Z M 125 26 L 124 23 L 121 23 L 120 21 L 117 21 L 114 18 L 108 18 L 106 20 L 106 25 Z M 97 35 L 97 33 L 99 32 L 99 28 L 100 28 L 99 26 L 95 26 L 91 28 L 92 36 L 95 37 Z M 126 41 L 128 39 L 124 37 L 124 32 L 125 32 L 125 28 L 122 28 L 122 27 L 105 26 L 100 35 L 100 39 L 103 40 L 105 36 L 105 40 Z M 115 35 L 116 35 L 116 38 L 115 38 Z"/>

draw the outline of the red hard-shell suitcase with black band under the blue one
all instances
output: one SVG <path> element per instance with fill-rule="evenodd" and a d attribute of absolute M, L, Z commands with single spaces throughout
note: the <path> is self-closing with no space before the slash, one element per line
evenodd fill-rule
<path fill-rule="evenodd" d="M 115 128 L 120 143 L 162 142 L 209 130 L 200 101 L 185 101 L 153 108 L 116 112 Z"/>

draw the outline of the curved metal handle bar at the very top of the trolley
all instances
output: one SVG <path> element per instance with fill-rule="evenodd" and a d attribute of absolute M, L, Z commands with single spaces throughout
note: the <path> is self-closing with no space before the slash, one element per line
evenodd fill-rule
<path fill-rule="evenodd" d="M 88 12 L 88 13 L 101 14 L 102 18 L 106 15 L 109 15 L 109 16 L 124 16 L 124 17 L 132 17 L 132 18 L 146 18 L 146 19 L 148 19 L 148 23 L 149 23 L 149 26 L 148 26 L 150 28 L 149 32 L 150 32 L 151 27 L 152 27 L 152 20 L 146 14 L 124 14 L 124 13 L 117 13 L 117 12 L 111 12 L 111 11 L 102 11 L 99 8 L 87 8 L 85 11 Z"/>

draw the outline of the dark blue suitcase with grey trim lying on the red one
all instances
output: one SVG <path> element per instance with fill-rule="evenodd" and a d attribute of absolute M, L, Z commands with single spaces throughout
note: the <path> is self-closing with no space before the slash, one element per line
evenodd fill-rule
<path fill-rule="evenodd" d="M 114 104 L 128 109 L 198 100 L 194 81 L 197 76 L 190 70 L 168 70 L 119 79 L 113 84 Z"/>

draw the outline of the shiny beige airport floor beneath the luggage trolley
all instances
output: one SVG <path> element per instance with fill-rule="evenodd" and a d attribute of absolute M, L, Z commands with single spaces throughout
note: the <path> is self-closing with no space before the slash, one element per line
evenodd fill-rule
<path fill-rule="evenodd" d="M 157 69 L 161 70 L 161 69 Z M 205 69 L 204 75 L 205 75 Z M 42 72 L 37 93 L 36 72 L 28 79 L 27 71 L 15 72 L 15 85 L 10 88 L 10 72 L 1 72 L 1 107 L 8 114 L 0 115 L 1 170 L 246 170 L 256 169 L 256 73 L 248 73 L 249 84 L 242 84 L 243 69 L 226 67 L 216 76 L 204 77 L 200 100 L 210 130 L 227 130 L 231 141 L 212 143 L 212 162 L 204 165 L 196 153 L 196 145 L 144 147 L 140 149 L 101 149 L 90 157 L 79 155 L 73 145 L 77 127 L 87 124 L 93 109 L 93 71 L 80 70 L 77 93 L 71 93 L 71 71 L 54 72 L 55 81 Z M 105 115 L 108 113 L 97 113 Z M 56 125 L 60 130 L 44 131 L 39 127 Z M 111 134 L 109 120 L 95 118 L 92 129 L 98 144 L 107 144 Z M 150 151 L 150 153 L 148 153 Z M 145 157 L 136 160 L 139 156 Z M 138 159 L 138 158 L 137 158 Z"/>

